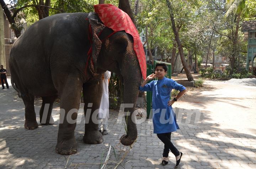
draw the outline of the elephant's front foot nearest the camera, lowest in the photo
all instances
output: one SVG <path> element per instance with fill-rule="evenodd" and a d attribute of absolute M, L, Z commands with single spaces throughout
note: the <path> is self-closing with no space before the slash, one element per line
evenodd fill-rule
<path fill-rule="evenodd" d="M 77 152 L 77 143 L 75 139 L 62 140 L 57 143 L 55 151 L 61 155 L 71 155 Z"/>

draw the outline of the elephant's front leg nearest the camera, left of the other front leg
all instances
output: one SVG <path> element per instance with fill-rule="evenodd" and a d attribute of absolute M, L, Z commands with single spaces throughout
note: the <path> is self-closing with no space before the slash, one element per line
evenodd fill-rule
<path fill-rule="evenodd" d="M 78 78 L 67 77 L 60 89 L 60 121 L 56 152 L 70 155 L 77 152 L 74 131 L 80 104 L 82 83 Z"/>

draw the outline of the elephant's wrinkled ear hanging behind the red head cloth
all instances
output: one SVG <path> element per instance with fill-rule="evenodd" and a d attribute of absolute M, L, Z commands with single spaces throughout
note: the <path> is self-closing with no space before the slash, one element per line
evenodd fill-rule
<path fill-rule="evenodd" d="M 92 42 L 92 51 L 91 51 L 91 62 L 90 64 L 90 72 L 93 75 L 97 75 L 96 73 L 96 63 L 97 63 L 97 58 L 98 55 L 100 54 L 101 50 L 101 40 L 98 38 L 99 34 L 102 32 L 102 30 L 105 28 L 105 25 L 101 24 L 99 22 L 99 18 L 95 12 L 90 12 L 88 15 L 88 20 L 89 20 L 89 35 L 90 36 L 90 41 Z"/>

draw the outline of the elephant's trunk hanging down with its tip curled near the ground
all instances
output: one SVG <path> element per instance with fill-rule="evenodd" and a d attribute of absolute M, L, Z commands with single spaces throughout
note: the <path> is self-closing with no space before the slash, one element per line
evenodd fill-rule
<path fill-rule="evenodd" d="M 127 134 L 121 137 L 121 143 L 130 146 L 137 139 L 138 132 L 136 126 L 136 114 L 133 114 L 136 107 L 136 101 L 139 94 L 139 85 L 142 80 L 142 74 L 138 60 L 129 60 L 122 69 L 124 82 L 124 113 L 127 126 Z M 128 108 L 127 108 L 128 107 Z M 128 114 L 127 114 L 128 113 Z"/>

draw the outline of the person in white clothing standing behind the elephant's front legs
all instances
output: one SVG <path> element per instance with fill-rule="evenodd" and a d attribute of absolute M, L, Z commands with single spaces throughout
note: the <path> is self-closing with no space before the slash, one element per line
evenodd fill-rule
<path fill-rule="evenodd" d="M 107 135 L 107 126 L 108 126 L 108 118 L 109 118 L 109 101 L 108 101 L 108 83 L 111 77 L 111 72 L 106 71 L 102 75 L 103 79 L 103 87 L 102 87 L 102 97 L 101 97 L 101 104 L 98 113 L 98 119 L 102 119 L 102 122 L 99 124 L 99 131 L 101 132 L 101 124 L 103 125 L 103 135 Z"/>

